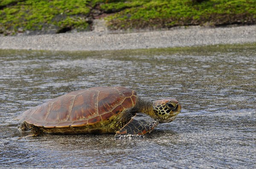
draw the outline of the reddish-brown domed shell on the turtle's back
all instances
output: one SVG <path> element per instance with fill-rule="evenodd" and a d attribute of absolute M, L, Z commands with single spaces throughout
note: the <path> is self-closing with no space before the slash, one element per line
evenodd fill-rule
<path fill-rule="evenodd" d="M 127 87 L 92 87 L 47 101 L 26 110 L 17 119 L 38 127 L 81 127 L 134 107 L 136 99 L 135 91 Z"/>

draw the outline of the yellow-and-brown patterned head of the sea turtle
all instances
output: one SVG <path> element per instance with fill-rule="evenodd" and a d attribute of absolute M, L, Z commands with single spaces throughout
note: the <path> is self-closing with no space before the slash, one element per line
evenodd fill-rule
<path fill-rule="evenodd" d="M 153 110 L 160 123 L 168 123 L 180 113 L 181 106 L 175 99 L 163 99 L 153 102 Z"/>

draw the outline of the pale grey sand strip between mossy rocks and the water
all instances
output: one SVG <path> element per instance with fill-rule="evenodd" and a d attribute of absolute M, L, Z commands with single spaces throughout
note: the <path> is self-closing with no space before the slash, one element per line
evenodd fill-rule
<path fill-rule="evenodd" d="M 256 25 L 204 28 L 191 26 L 168 31 L 110 33 L 89 31 L 45 35 L 0 35 L 0 49 L 54 51 L 98 51 L 139 48 L 167 48 L 256 42 Z"/>

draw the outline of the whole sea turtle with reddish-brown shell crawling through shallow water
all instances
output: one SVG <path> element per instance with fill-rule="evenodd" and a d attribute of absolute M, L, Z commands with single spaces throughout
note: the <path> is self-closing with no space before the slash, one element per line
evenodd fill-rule
<path fill-rule="evenodd" d="M 92 87 L 59 96 L 26 110 L 16 119 L 32 137 L 46 133 L 144 135 L 158 123 L 173 121 L 181 106 L 175 99 L 142 99 L 127 87 Z"/>

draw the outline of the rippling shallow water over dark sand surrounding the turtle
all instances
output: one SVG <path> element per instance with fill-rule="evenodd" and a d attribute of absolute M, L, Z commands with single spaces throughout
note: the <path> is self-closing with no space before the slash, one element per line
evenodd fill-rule
<path fill-rule="evenodd" d="M 102 52 L 0 51 L 0 166 L 255 168 L 255 44 Z M 132 87 L 182 112 L 144 139 L 113 134 L 20 139 L 23 111 L 74 90 Z"/>

